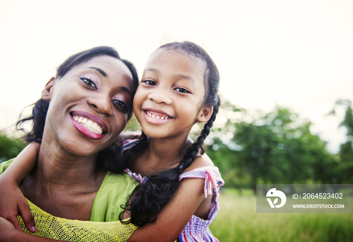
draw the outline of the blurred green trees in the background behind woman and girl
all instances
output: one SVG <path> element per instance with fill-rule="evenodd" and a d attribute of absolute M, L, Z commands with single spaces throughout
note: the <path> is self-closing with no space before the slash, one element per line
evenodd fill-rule
<path fill-rule="evenodd" d="M 220 107 L 207 138 L 207 154 L 219 167 L 226 188 L 255 189 L 256 184 L 353 184 L 353 111 L 350 100 L 337 100 L 329 115 L 345 108 L 340 126 L 346 142 L 337 154 L 310 132 L 310 120 L 285 107 L 269 113 L 239 108 L 229 101 Z M 203 125 L 196 125 L 195 139 Z M 338 127 L 337 127 L 338 128 Z M 140 131 L 133 117 L 126 131 Z M 20 139 L 0 135 L 0 162 L 15 157 L 25 146 Z"/>

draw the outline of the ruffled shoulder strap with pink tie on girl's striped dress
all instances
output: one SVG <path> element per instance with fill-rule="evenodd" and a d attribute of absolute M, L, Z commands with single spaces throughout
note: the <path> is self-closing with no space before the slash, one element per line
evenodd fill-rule
<path fill-rule="evenodd" d="M 218 167 L 216 166 L 202 166 L 191 171 L 185 172 L 179 176 L 179 181 L 186 177 L 205 179 L 205 198 L 207 198 L 207 195 L 212 194 L 212 188 L 214 190 L 217 190 L 218 188 L 224 185 L 224 180 L 222 179 Z"/>

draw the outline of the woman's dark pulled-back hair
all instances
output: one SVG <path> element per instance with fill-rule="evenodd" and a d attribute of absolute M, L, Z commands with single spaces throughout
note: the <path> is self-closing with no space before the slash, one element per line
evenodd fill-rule
<path fill-rule="evenodd" d="M 133 76 L 133 95 L 135 95 L 136 89 L 139 85 L 139 78 L 137 75 L 136 68 L 134 65 L 125 60 L 121 59 L 119 56 L 119 53 L 112 47 L 109 46 L 98 46 L 94 47 L 88 50 L 84 50 L 82 52 L 76 53 L 69 58 L 66 59 L 66 61 L 61 64 L 56 71 L 56 78 L 59 80 L 63 76 L 65 76 L 71 69 L 74 67 L 90 61 L 92 58 L 97 57 L 97 56 L 102 56 L 102 55 L 108 55 L 111 57 L 114 57 L 116 59 L 120 59 L 130 70 L 132 76 Z M 36 103 L 32 104 L 33 109 L 32 109 L 32 114 L 28 117 L 21 118 L 20 120 L 16 123 L 16 129 L 20 131 L 26 132 L 26 135 L 24 136 L 24 140 L 27 142 L 37 142 L 41 143 L 42 137 L 43 137 L 43 131 L 44 131 L 44 125 L 45 125 L 45 118 L 46 118 L 46 113 L 48 111 L 49 107 L 49 101 L 39 99 Z M 131 108 L 129 110 L 129 115 L 128 119 L 131 118 L 133 114 L 133 105 L 131 105 Z M 25 131 L 25 129 L 22 128 L 22 125 L 26 123 L 27 121 L 33 122 L 32 124 L 32 130 L 30 132 Z M 114 165 L 111 165 L 110 163 L 120 163 L 122 162 L 116 162 L 116 155 L 118 151 L 116 148 L 114 148 L 112 145 L 107 147 L 105 150 L 101 151 L 98 157 L 98 160 L 101 161 L 98 166 L 102 169 L 108 169 L 114 172 L 121 172 L 124 167 L 115 167 Z M 114 158 L 115 156 L 115 158 Z M 119 157 L 119 155 L 118 155 Z M 114 161 L 115 160 L 115 161 Z M 113 167 L 112 167 L 113 166 Z M 125 165 L 124 165 L 125 166 Z"/>

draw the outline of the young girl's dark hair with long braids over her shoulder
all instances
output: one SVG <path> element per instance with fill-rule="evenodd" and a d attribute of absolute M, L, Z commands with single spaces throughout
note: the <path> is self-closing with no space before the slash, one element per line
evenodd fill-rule
<path fill-rule="evenodd" d="M 126 222 L 122 221 L 124 214 L 124 212 L 122 212 L 120 214 L 120 220 L 123 223 L 133 223 L 137 226 L 155 222 L 157 213 L 172 199 L 177 191 L 179 187 L 179 175 L 191 165 L 198 154 L 202 155 L 205 152 L 204 140 L 210 133 L 210 128 L 213 125 L 220 105 L 220 99 L 217 94 L 219 72 L 211 57 L 203 48 L 192 42 L 185 41 L 182 43 L 168 43 L 158 49 L 173 50 L 182 54 L 188 54 L 200 58 L 204 62 L 205 97 L 203 99 L 203 105 L 213 106 L 213 113 L 196 142 L 187 149 L 179 165 L 175 168 L 152 174 L 146 183 L 139 184 L 135 188 L 129 202 L 125 206 L 122 206 L 125 210 L 130 211 L 131 218 Z M 141 148 L 146 146 L 147 142 L 148 138 L 142 132 L 139 141 L 131 149 L 126 159 L 131 159 Z"/>

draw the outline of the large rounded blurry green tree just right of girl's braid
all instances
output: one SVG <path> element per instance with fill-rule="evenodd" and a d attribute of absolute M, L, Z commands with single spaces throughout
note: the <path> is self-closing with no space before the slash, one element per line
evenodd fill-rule
<path fill-rule="evenodd" d="M 308 120 L 281 107 L 260 115 L 232 105 L 226 109 L 227 121 L 214 131 L 213 149 L 208 152 L 226 184 L 255 187 L 259 183 L 306 183 L 308 179 L 331 183 L 336 177 L 337 164 L 326 151 L 326 143 L 311 134 Z M 224 139 L 230 137 L 229 132 L 231 139 Z"/>

